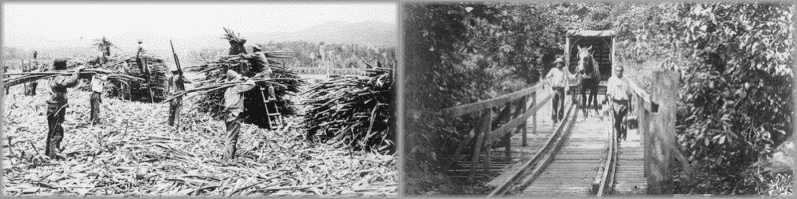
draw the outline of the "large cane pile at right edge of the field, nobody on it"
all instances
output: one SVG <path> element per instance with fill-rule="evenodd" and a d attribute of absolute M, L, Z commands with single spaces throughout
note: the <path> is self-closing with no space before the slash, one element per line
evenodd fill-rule
<path fill-rule="evenodd" d="M 339 76 L 311 87 L 303 124 L 308 138 L 345 143 L 355 150 L 395 150 L 393 70 L 368 69 L 367 76 Z"/>

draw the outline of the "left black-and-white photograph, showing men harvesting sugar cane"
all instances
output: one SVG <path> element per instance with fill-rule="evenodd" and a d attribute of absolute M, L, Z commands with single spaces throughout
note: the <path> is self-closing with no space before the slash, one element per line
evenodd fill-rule
<path fill-rule="evenodd" d="M 2 195 L 397 197 L 395 3 L 2 4 Z"/>

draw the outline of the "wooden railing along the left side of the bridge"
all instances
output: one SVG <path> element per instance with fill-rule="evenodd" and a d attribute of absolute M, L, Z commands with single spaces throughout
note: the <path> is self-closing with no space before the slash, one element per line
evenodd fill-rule
<path fill-rule="evenodd" d="M 451 164 L 456 163 L 464 149 L 475 141 L 470 173 L 468 175 L 468 180 L 473 180 L 476 173 L 476 165 L 482 154 L 485 157 L 483 161 L 484 170 L 485 172 L 489 172 L 491 164 L 490 157 L 492 157 L 490 149 L 492 148 L 493 142 L 502 140 L 501 144 L 505 146 L 505 155 L 507 159 L 510 159 L 512 156 L 511 137 L 513 133 L 521 133 L 522 146 L 527 146 L 526 126 L 528 118 L 532 118 L 532 133 L 536 133 L 536 113 L 553 98 L 553 92 L 538 95 L 540 91 L 545 90 L 545 87 L 549 87 L 547 85 L 547 80 L 542 80 L 532 87 L 500 97 L 443 109 L 442 114 L 448 117 L 479 114 L 478 124 L 474 125 L 472 129 L 467 130 L 469 136 L 459 143 L 452 156 L 453 161 L 451 161 Z M 568 87 L 565 87 L 565 89 L 567 90 Z M 541 99 L 539 102 L 537 101 L 538 98 Z M 532 102 L 531 105 L 529 105 L 529 100 Z M 564 96 L 562 100 L 564 100 Z M 450 166 L 450 164 L 446 166 L 446 170 L 448 166 Z"/>

